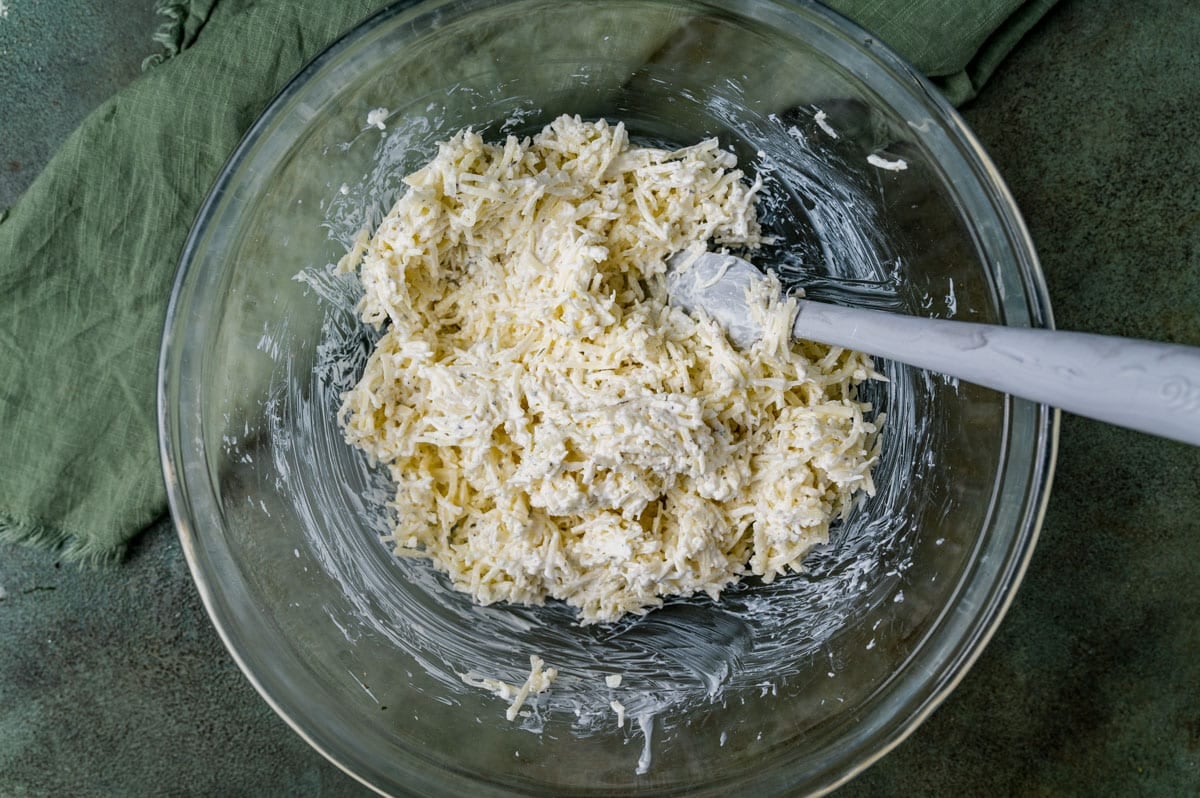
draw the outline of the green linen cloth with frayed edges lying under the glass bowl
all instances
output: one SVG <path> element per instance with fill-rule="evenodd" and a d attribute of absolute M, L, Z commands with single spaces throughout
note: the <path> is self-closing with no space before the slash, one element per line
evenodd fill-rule
<path fill-rule="evenodd" d="M 954 102 L 972 97 L 1052 4 L 829 2 Z M 271 97 L 385 5 L 160 1 L 163 53 L 0 214 L 0 540 L 115 562 L 166 511 L 155 372 L 188 227 Z"/>

